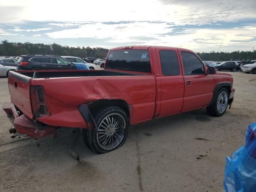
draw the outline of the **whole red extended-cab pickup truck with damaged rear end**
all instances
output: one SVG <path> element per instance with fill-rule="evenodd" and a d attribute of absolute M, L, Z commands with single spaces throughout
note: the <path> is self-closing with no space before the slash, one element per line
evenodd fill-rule
<path fill-rule="evenodd" d="M 39 138 L 82 128 L 97 153 L 122 146 L 129 124 L 204 107 L 222 116 L 235 92 L 230 74 L 207 68 L 191 50 L 161 46 L 113 48 L 104 70 L 11 71 L 8 85 L 10 133 Z"/>

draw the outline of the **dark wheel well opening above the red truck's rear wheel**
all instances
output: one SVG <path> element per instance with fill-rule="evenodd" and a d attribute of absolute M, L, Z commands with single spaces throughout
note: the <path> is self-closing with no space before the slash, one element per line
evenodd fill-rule
<path fill-rule="evenodd" d="M 100 109 L 106 108 L 109 106 L 120 107 L 122 110 L 126 112 L 128 119 L 130 118 L 129 106 L 127 102 L 124 100 L 100 99 L 88 104 L 88 108 L 90 109 L 92 116 L 94 116 Z"/>

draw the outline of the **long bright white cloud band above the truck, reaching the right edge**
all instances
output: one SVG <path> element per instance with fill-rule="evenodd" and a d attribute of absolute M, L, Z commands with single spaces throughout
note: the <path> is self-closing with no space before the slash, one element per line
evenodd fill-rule
<path fill-rule="evenodd" d="M 76 29 L 66 29 L 46 33 L 50 38 L 109 38 L 108 43 L 123 43 L 158 46 L 174 46 L 192 50 L 214 50 L 222 42 L 222 47 L 230 45 L 252 46 L 250 41 L 256 36 L 256 27 L 205 29 L 180 29 L 167 23 L 134 22 L 128 24 L 85 24 Z M 174 33 L 175 29 L 175 33 Z M 170 35 L 167 35 L 170 34 Z"/>

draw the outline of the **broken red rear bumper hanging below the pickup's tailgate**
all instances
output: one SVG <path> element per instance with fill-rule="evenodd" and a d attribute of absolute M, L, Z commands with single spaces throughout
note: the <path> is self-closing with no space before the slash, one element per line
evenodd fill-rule
<path fill-rule="evenodd" d="M 5 102 L 3 110 L 6 112 L 7 117 L 12 122 L 16 131 L 20 134 L 28 135 L 32 138 L 41 138 L 52 134 L 57 136 L 55 126 L 49 126 L 41 122 L 34 122 L 26 115 L 19 115 L 12 102 Z"/>

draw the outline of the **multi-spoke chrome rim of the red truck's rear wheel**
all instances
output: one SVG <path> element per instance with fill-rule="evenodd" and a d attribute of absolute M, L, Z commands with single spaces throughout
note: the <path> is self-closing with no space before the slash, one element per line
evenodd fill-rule
<path fill-rule="evenodd" d="M 104 150 L 111 150 L 118 146 L 124 139 L 126 121 L 118 113 L 106 116 L 98 126 L 97 142 Z"/>

